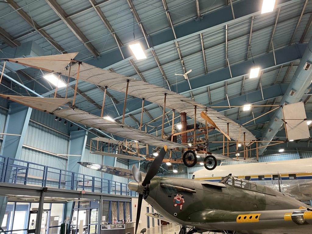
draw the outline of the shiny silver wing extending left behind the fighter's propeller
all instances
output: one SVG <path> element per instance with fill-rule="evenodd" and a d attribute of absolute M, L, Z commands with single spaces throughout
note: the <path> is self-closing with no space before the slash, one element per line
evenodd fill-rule
<path fill-rule="evenodd" d="M 87 163 L 87 162 L 78 162 L 81 166 L 94 169 L 100 172 L 105 172 L 111 175 L 121 176 L 128 179 L 134 179 L 131 170 L 119 168 L 119 167 L 112 167 L 112 166 L 105 166 L 96 163 Z M 145 173 L 141 173 L 142 178 L 145 178 Z"/>

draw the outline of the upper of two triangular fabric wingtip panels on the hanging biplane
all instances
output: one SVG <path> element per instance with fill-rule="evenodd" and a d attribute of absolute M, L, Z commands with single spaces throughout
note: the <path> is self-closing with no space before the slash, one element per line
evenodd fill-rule
<path fill-rule="evenodd" d="M 30 58 L 15 58 L 5 60 L 49 72 L 58 72 L 62 71 L 64 67 L 66 67 L 67 64 L 69 64 L 69 62 L 76 57 L 77 54 L 78 52 L 70 54 L 59 54 Z"/>

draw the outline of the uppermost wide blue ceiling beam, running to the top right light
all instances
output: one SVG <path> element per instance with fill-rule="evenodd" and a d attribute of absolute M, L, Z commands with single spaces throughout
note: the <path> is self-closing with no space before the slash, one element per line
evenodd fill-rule
<path fill-rule="evenodd" d="M 275 3 L 275 8 L 299 1 L 300 0 L 277 0 Z M 174 41 L 181 41 L 188 37 L 193 37 L 200 33 L 220 28 L 224 25 L 246 19 L 253 15 L 257 15 L 261 11 L 261 6 L 262 0 L 241 0 L 239 2 L 233 3 L 235 19 L 233 19 L 231 6 L 229 5 L 205 14 L 203 19 L 200 21 L 195 21 L 194 19 L 174 26 L 177 39 L 174 38 L 173 31 L 170 27 L 163 31 L 154 33 L 153 35 L 149 35 L 147 39 L 149 41 L 150 47 L 163 47 L 173 43 Z M 142 38 L 140 42 L 145 51 L 150 51 L 152 49 L 147 48 L 144 38 Z M 132 53 L 127 45 L 122 46 L 121 51 L 124 54 L 124 58 L 121 56 L 119 49 L 116 48 L 101 54 L 100 59 L 90 59 L 87 60 L 86 63 L 108 69 L 114 66 L 118 66 L 120 62 L 128 61 L 129 59 L 133 58 Z"/>

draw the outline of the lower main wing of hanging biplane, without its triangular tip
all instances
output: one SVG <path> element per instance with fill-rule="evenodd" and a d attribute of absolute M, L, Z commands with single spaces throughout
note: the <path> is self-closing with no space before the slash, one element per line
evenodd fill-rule
<path fill-rule="evenodd" d="M 91 115 L 85 111 L 78 109 L 61 109 L 53 112 L 54 115 L 60 116 L 65 119 L 69 119 L 76 123 L 80 123 L 95 129 L 103 130 L 105 132 L 121 136 L 128 139 L 134 139 L 145 144 L 163 147 L 167 145 L 168 149 L 174 149 L 178 147 L 185 148 L 182 144 L 177 144 L 165 139 L 161 139 L 151 134 L 141 132 L 137 129 L 131 128 L 124 124 L 118 124 L 109 120 L 103 119 L 96 115 Z"/>

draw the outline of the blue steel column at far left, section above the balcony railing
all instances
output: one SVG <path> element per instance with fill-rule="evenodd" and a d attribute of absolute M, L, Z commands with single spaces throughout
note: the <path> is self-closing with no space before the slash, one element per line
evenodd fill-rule
<path fill-rule="evenodd" d="M 16 102 L 10 103 L 4 133 L 21 136 L 4 135 L 0 155 L 20 159 L 32 108 Z"/>

